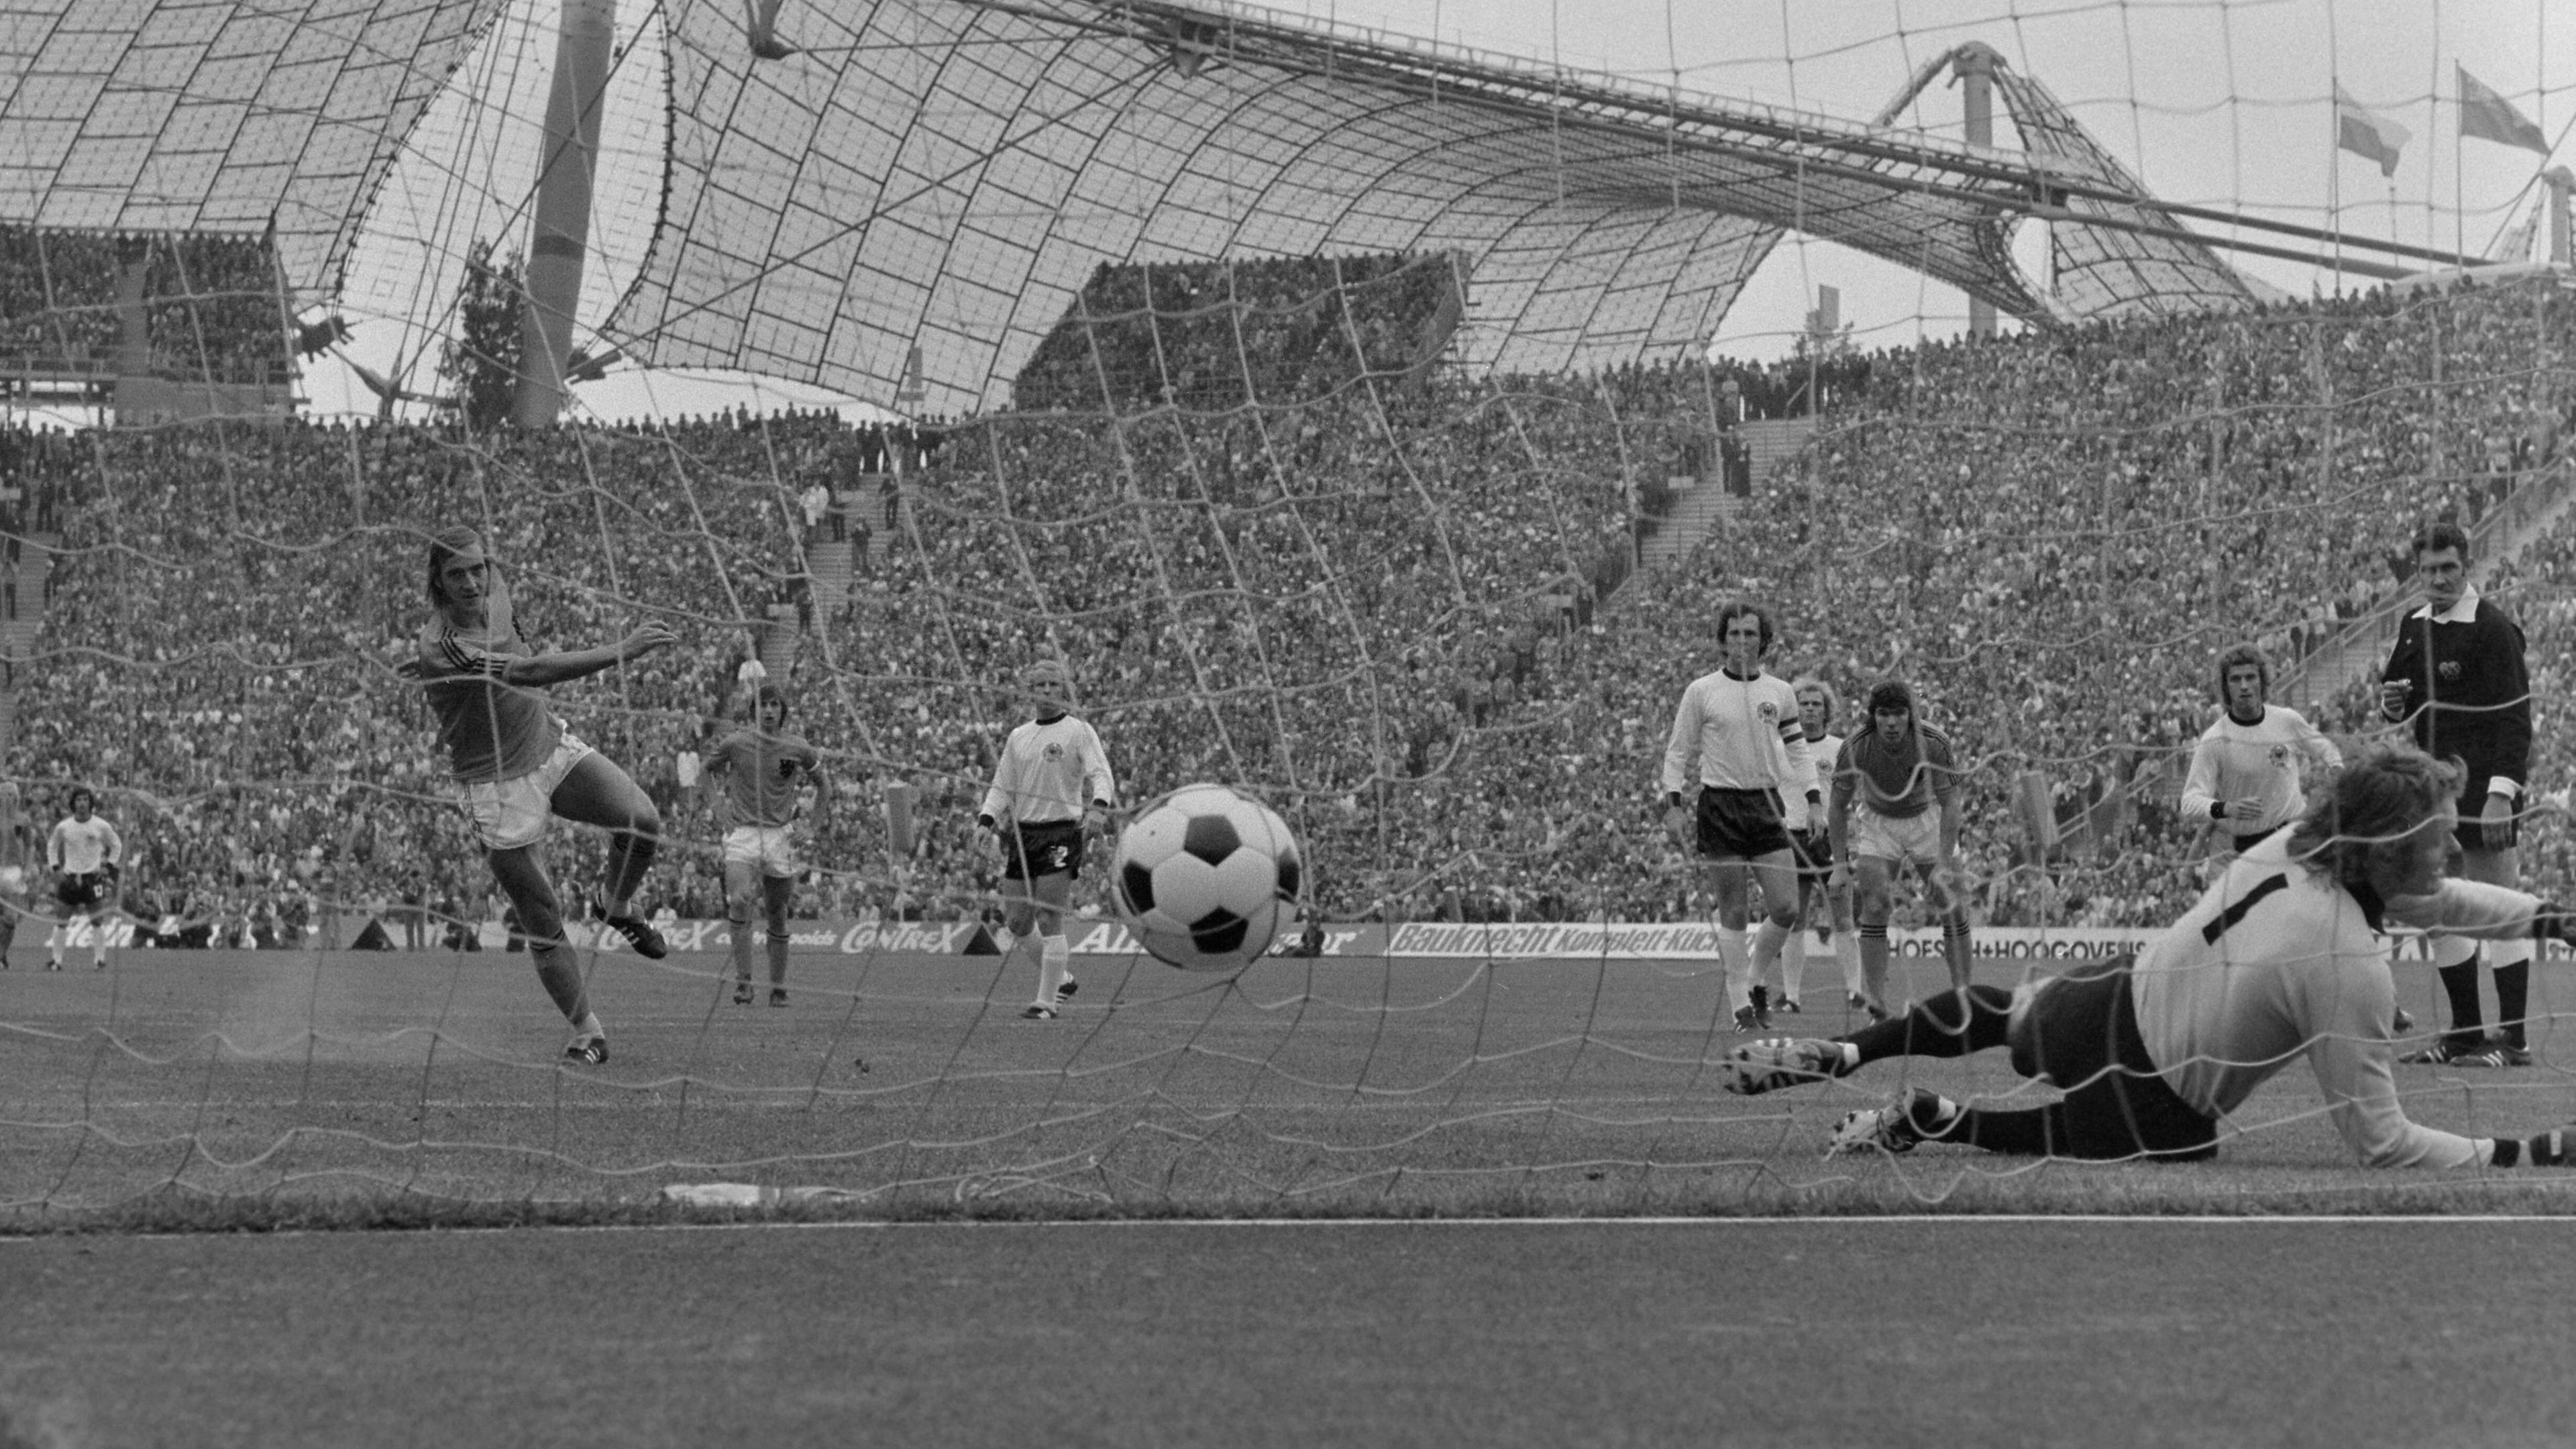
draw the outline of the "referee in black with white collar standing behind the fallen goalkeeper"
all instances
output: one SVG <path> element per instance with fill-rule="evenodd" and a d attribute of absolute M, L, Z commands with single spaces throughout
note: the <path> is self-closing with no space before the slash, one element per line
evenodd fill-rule
<path fill-rule="evenodd" d="M 2522 874 L 2517 810 L 2532 763 L 2532 686 L 2522 660 L 2522 627 L 2468 583 L 2468 534 L 2429 523 L 2414 536 L 2424 606 L 2398 624 L 2398 642 L 2380 673 L 2380 712 L 2414 727 L 2416 745 L 2437 761 L 2460 761 L 2460 877 L 2512 887 Z M 2532 998 L 2532 944 L 2496 941 L 2496 1024 L 2486 1036 L 2478 1011 L 2478 944 L 2434 936 L 2432 962 L 2450 998 L 2450 1031 L 2409 1062 L 2458 1067 L 2532 1065 L 2522 1018 Z"/>

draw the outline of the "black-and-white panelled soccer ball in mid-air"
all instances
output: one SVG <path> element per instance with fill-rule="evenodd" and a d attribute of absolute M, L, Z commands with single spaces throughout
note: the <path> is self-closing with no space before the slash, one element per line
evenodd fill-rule
<path fill-rule="evenodd" d="M 1118 835 L 1110 882 L 1157 962 L 1239 972 L 1296 918 L 1303 874 L 1275 810 L 1221 784 L 1190 784 Z"/>

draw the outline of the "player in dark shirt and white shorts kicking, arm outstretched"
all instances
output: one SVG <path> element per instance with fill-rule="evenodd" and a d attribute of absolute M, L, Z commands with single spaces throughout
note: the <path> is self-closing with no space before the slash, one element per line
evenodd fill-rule
<path fill-rule="evenodd" d="M 608 830 L 608 884 L 598 913 L 639 957 L 662 959 L 670 951 L 662 933 L 634 910 L 634 892 L 662 838 L 662 812 L 616 761 L 580 743 L 546 709 L 541 691 L 644 657 L 677 637 L 659 624 L 641 624 L 616 645 L 536 652 L 513 619 L 510 590 L 474 529 L 440 529 L 430 539 L 428 588 L 435 614 L 420 627 L 420 655 L 404 660 L 399 673 L 428 691 L 438 743 L 448 750 L 492 879 L 518 910 L 536 980 L 572 1024 L 564 1057 L 605 1062 L 608 1034 L 590 1011 L 582 969 L 564 941 L 564 908 L 536 859 L 536 843 L 554 817 Z"/>

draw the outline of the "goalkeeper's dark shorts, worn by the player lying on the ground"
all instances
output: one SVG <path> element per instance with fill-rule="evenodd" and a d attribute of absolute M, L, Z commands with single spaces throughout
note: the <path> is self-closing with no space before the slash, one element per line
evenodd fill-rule
<path fill-rule="evenodd" d="M 2218 1155 L 2218 1119 L 2164 1085 L 2138 1034 L 2128 977 L 2136 957 L 2076 967 L 2043 982 L 2012 1018 L 2012 1070 L 2066 1093 L 2040 1109 L 2050 1158 Z"/>

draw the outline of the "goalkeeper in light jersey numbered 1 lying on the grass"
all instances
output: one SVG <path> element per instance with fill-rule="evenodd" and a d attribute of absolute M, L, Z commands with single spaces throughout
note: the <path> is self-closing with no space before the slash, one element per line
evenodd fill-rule
<path fill-rule="evenodd" d="M 1963 1106 L 1911 1091 L 1855 1111 L 1834 1150 L 1958 1142 L 2050 1158 L 2192 1160 L 2221 1122 L 2306 1057 L 2334 1127 L 2372 1168 L 2576 1165 L 2576 1129 L 2460 1137 L 2406 1119 L 2396 1091 L 2385 923 L 2488 941 L 2576 936 L 2568 913 L 2519 890 L 2445 879 L 2460 771 L 2421 750 L 2352 763 L 2295 830 L 2236 856 L 2136 957 L 1971 985 L 1834 1042 L 1770 1039 L 1734 1052 L 1736 1093 L 1842 1078 L 1883 1057 L 2009 1047 L 2012 1067 L 2063 1091 L 2048 1106 Z"/>

